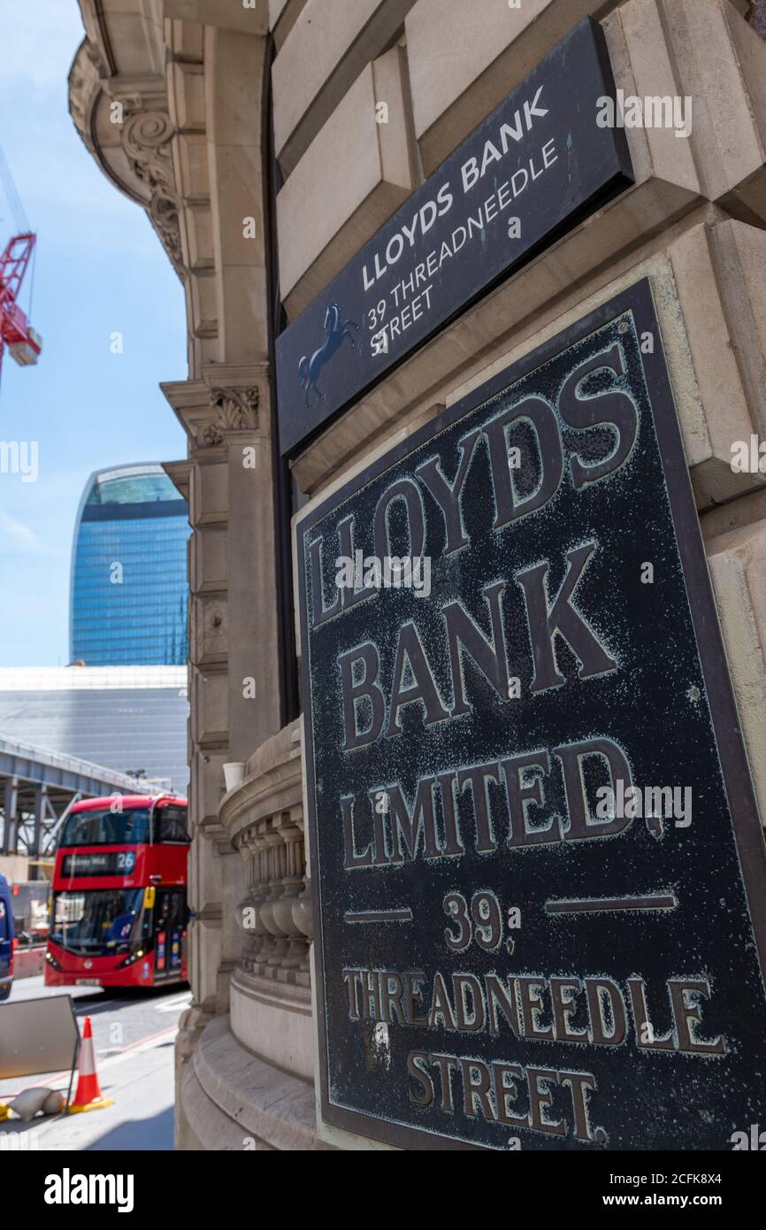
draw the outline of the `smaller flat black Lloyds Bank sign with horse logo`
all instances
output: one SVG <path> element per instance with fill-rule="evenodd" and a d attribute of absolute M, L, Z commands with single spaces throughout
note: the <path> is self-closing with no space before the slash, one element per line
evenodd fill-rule
<path fill-rule="evenodd" d="M 530 73 L 277 338 L 282 453 L 466 304 L 632 182 L 590 17 Z"/>

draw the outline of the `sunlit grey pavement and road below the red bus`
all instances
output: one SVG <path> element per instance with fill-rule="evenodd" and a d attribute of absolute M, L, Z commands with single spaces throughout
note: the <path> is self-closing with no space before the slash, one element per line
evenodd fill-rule
<path fill-rule="evenodd" d="M 61 994 L 71 995 L 80 1028 L 82 1017 L 91 1017 L 101 1092 L 114 1106 L 28 1124 L 7 1119 L 0 1123 L 0 1153 L 172 1150 L 173 1042 L 191 991 L 178 984 L 135 991 L 44 986 L 38 977 L 15 983 L 11 1001 Z M 66 1090 L 69 1073 L 0 1080 L 0 1101 L 39 1085 Z"/>

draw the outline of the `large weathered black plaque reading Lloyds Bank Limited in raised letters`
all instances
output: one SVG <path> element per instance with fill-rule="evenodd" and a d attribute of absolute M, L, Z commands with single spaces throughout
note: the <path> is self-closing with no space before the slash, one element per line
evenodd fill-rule
<path fill-rule="evenodd" d="M 542 1150 L 766 1123 L 764 841 L 649 283 L 298 551 L 325 1119 Z"/>

